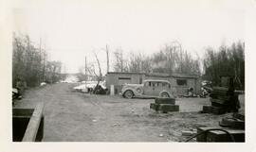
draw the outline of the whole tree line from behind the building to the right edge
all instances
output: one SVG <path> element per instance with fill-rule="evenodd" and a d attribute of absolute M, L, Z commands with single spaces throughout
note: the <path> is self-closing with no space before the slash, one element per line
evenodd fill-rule
<path fill-rule="evenodd" d="M 114 51 L 115 72 L 167 73 L 202 76 L 213 85 L 219 85 L 220 76 L 234 76 L 237 88 L 245 88 L 245 44 L 233 42 L 218 49 L 207 47 L 202 59 L 182 48 L 180 42 L 164 45 L 150 56 L 141 53 L 123 55 L 122 49 Z"/>

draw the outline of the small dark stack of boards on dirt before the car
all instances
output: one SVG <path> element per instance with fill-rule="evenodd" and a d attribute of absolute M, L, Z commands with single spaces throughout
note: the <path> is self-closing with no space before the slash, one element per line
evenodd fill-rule
<path fill-rule="evenodd" d="M 150 109 L 167 113 L 169 111 L 179 111 L 179 106 L 175 105 L 174 98 L 157 97 L 155 103 L 150 104 Z"/>

